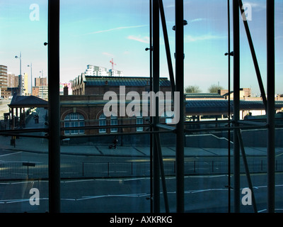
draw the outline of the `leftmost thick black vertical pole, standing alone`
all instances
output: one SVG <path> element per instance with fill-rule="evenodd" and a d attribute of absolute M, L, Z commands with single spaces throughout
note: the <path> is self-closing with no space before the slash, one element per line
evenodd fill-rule
<path fill-rule="evenodd" d="M 60 212 L 59 0 L 48 2 L 49 210 Z"/>

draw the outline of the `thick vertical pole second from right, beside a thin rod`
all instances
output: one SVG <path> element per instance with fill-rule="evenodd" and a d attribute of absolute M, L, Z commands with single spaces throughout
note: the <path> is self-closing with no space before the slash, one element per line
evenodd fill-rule
<path fill-rule="evenodd" d="M 233 121 L 240 119 L 240 32 L 238 1 L 233 0 Z M 234 212 L 240 212 L 240 146 L 237 131 L 233 131 Z"/>

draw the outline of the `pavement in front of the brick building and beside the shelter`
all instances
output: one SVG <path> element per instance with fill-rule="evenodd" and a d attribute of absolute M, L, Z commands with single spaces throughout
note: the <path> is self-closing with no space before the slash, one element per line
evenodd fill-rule
<path fill-rule="evenodd" d="M 25 128 L 45 128 L 45 109 L 37 109 L 39 116 L 39 123 L 35 123 L 33 117 L 26 123 Z M 37 135 L 44 135 L 44 132 L 34 133 Z M 0 148 L 2 150 L 28 151 L 35 153 L 48 153 L 48 140 L 45 138 L 16 138 L 16 145 L 11 145 L 10 136 L 0 135 Z M 233 146 L 232 146 L 233 147 Z M 175 157 L 175 147 L 162 147 L 163 157 Z M 250 148 L 245 147 L 247 156 L 266 156 L 267 148 Z M 119 146 L 116 149 L 109 149 L 108 146 L 103 145 L 68 145 L 65 143 L 60 147 L 61 154 L 69 155 L 102 155 L 102 156 L 131 156 L 131 157 L 149 157 L 150 149 L 144 146 Z M 283 155 L 283 148 L 275 148 L 277 156 Z M 185 157 L 204 157 L 214 156 L 221 157 L 228 155 L 227 148 L 184 148 Z M 231 149 L 233 155 L 233 149 Z"/>

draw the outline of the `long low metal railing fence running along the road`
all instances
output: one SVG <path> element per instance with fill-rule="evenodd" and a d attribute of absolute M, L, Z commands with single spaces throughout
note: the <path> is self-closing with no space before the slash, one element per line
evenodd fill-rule
<path fill-rule="evenodd" d="M 231 162 L 233 166 L 233 162 Z M 163 162 L 165 175 L 175 175 L 175 161 Z M 248 161 L 250 173 L 266 172 L 266 160 Z M 231 168 L 233 171 L 233 168 Z M 275 163 L 277 172 L 283 171 L 283 159 Z M 241 173 L 245 169 L 241 165 Z M 232 172 L 233 173 L 233 172 Z M 226 160 L 195 160 L 185 162 L 185 175 L 228 174 Z M 63 162 L 62 178 L 80 177 L 149 177 L 150 162 Z M 42 162 L 2 162 L 0 179 L 48 178 L 48 164 Z"/>

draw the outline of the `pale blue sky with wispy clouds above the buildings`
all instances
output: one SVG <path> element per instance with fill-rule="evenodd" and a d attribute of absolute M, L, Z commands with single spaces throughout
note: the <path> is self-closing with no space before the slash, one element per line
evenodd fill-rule
<path fill-rule="evenodd" d="M 184 0 L 185 86 L 197 85 L 207 92 L 211 84 L 227 89 L 227 19 L 226 0 Z M 231 1 L 232 2 L 232 1 Z M 252 9 L 250 32 L 258 57 L 262 81 L 266 84 L 265 1 L 243 1 Z M 39 20 L 30 20 L 32 4 L 39 6 Z M 175 52 L 174 0 L 163 0 L 168 37 Z M 275 0 L 276 92 L 283 94 L 283 1 Z M 35 15 L 35 14 L 33 14 Z M 47 0 L 0 0 L 0 64 L 8 72 L 33 77 L 47 75 Z M 232 29 L 232 27 L 231 27 Z M 232 43 L 232 40 L 231 40 Z M 149 1 L 148 0 L 61 0 L 60 80 L 68 82 L 86 70 L 86 65 L 122 70 L 125 76 L 149 76 Z M 231 50 L 233 47 L 231 45 Z M 233 64 L 231 65 L 233 67 Z M 231 70 L 231 77 L 233 77 Z M 52 75 L 50 75 L 52 76 Z M 161 77 L 168 77 L 166 52 L 161 32 Z M 30 81 L 30 79 L 29 79 Z M 253 61 L 241 23 L 241 87 L 251 87 L 259 94 Z M 232 84 L 233 85 L 233 84 Z M 30 85 L 29 85 L 30 86 Z"/>

